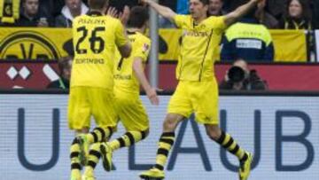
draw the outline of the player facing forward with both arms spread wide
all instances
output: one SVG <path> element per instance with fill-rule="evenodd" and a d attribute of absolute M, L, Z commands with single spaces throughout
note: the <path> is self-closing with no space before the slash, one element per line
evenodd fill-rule
<path fill-rule="evenodd" d="M 140 177 L 163 179 L 168 153 L 175 142 L 175 129 L 180 121 L 195 113 L 196 121 L 204 124 L 206 134 L 239 160 L 238 176 L 246 180 L 250 174 L 252 153 L 246 152 L 226 132 L 219 128 L 218 84 L 214 76 L 214 54 L 224 30 L 249 12 L 261 0 L 250 0 L 234 12 L 220 17 L 207 17 L 209 0 L 190 0 L 191 15 L 179 15 L 152 0 L 142 0 L 164 18 L 183 29 L 183 38 L 176 67 L 179 81 L 169 101 L 163 133 L 159 138 L 156 163 Z"/>

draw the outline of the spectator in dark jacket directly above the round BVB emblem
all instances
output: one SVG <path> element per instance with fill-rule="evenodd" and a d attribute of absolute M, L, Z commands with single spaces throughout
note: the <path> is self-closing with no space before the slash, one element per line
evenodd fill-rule
<path fill-rule="evenodd" d="M 22 0 L 22 11 L 15 24 L 18 27 L 49 27 L 49 17 L 40 12 L 39 0 Z"/>

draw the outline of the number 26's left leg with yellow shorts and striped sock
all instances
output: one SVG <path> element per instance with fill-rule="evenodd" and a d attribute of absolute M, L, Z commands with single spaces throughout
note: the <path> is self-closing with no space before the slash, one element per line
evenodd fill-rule
<path fill-rule="evenodd" d="M 72 88 L 68 103 L 68 125 L 75 131 L 76 137 L 70 147 L 71 159 L 71 180 L 81 179 L 81 169 L 85 164 L 84 154 L 78 136 L 82 136 L 89 131 L 89 104 L 85 99 L 85 90 L 82 88 Z"/>

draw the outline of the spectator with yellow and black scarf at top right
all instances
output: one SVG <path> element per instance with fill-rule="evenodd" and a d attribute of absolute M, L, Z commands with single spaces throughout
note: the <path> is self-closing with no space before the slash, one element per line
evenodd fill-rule
<path fill-rule="evenodd" d="M 279 27 L 311 30 L 311 12 L 307 2 L 305 0 L 288 0 L 286 12 Z"/>

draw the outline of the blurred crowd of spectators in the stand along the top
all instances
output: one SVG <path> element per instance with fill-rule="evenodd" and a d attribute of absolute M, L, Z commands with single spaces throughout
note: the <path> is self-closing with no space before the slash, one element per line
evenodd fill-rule
<path fill-rule="evenodd" d="M 214 16 L 222 15 L 247 1 L 210 0 L 209 13 Z M 188 13 L 188 2 L 159 0 L 159 4 L 182 14 Z M 19 4 L 19 10 L 14 10 L 18 7 L 14 4 Z M 119 12 L 125 5 L 132 7 L 137 4 L 138 0 L 110 1 L 110 5 Z M 71 27 L 76 16 L 88 12 L 87 0 L 5 0 L 0 8 L 2 27 Z M 19 18 L 15 13 L 19 13 Z M 254 15 L 256 20 L 268 28 L 315 29 L 319 28 L 319 0 L 264 0 L 258 5 Z M 6 20 L 5 16 L 16 17 L 16 20 Z M 159 27 L 174 25 L 159 17 Z"/>

